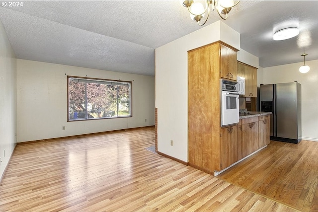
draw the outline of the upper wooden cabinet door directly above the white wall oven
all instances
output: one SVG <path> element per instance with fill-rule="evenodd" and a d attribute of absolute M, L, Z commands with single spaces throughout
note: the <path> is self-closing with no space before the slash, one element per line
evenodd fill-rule
<path fill-rule="evenodd" d="M 221 77 L 237 80 L 237 52 L 223 44 L 221 46 Z"/>

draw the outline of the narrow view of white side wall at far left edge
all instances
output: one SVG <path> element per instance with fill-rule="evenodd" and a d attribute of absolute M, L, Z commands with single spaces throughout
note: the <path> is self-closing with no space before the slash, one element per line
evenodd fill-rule
<path fill-rule="evenodd" d="M 0 178 L 15 147 L 15 133 L 16 59 L 0 21 Z"/>

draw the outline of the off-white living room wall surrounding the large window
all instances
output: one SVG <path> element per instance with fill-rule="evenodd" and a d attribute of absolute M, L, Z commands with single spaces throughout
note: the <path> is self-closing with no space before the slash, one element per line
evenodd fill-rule
<path fill-rule="evenodd" d="M 67 122 L 67 75 L 133 81 L 133 117 Z M 17 59 L 18 142 L 153 125 L 153 76 Z"/>

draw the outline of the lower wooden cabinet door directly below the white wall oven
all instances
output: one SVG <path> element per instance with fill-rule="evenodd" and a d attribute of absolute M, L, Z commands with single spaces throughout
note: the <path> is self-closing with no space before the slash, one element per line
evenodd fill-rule
<path fill-rule="evenodd" d="M 238 125 L 221 128 L 221 169 L 238 161 Z"/>

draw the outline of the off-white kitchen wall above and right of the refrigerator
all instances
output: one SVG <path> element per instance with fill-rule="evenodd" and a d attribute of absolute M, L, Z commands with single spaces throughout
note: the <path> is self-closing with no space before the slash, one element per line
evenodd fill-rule
<path fill-rule="evenodd" d="M 311 70 L 302 74 L 303 62 L 263 68 L 263 84 L 298 81 L 302 85 L 302 139 L 318 141 L 318 60 L 306 61 Z"/>

